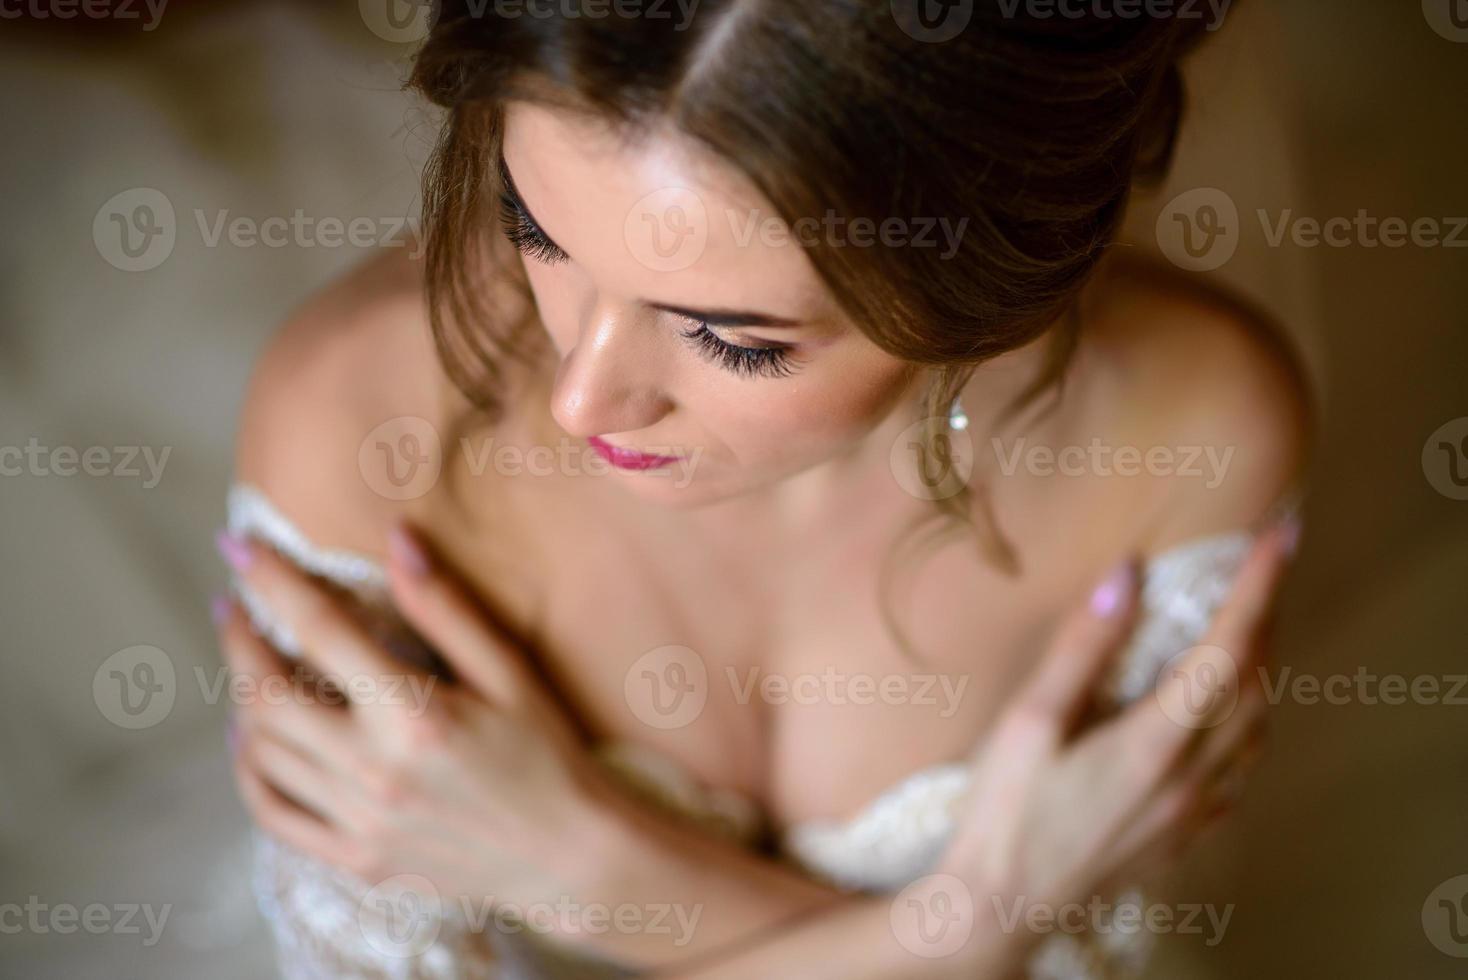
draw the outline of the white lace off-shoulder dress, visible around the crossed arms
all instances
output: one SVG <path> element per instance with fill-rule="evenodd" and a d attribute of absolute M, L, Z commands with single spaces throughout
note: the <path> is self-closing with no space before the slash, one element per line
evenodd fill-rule
<path fill-rule="evenodd" d="M 255 535 L 305 571 L 321 575 L 367 603 L 382 603 L 386 577 L 361 555 L 314 546 L 258 490 L 236 486 L 229 494 L 229 528 Z M 1226 533 L 1188 541 L 1154 557 L 1142 581 L 1136 634 L 1113 676 L 1113 694 L 1130 701 L 1144 694 L 1163 665 L 1198 643 L 1227 594 L 1251 534 Z M 238 588 L 238 587 L 236 587 Z M 283 651 L 299 648 L 270 612 L 238 590 L 255 625 Z M 706 820 L 737 838 L 752 836 L 757 814 L 749 801 L 709 794 L 669 760 L 627 744 L 602 747 L 600 757 L 665 804 Z M 897 891 L 928 873 L 954 829 L 957 804 L 967 789 L 967 769 L 947 763 L 922 769 L 844 822 L 788 827 L 781 852 L 806 871 L 850 889 Z M 389 923 L 376 902 L 364 901 L 370 883 L 295 852 L 269 835 L 255 835 L 255 895 L 279 946 L 289 980 L 383 977 L 396 980 L 562 980 L 633 976 L 614 964 L 561 954 L 530 932 L 493 942 L 471 929 L 451 905 L 433 910 L 432 942 L 393 946 L 374 940 Z M 1119 901 L 1141 901 L 1130 892 Z M 492 930 L 490 930 L 492 932 Z M 1053 933 L 1029 961 L 1035 980 L 1091 980 L 1136 974 L 1149 952 L 1145 930 Z"/>

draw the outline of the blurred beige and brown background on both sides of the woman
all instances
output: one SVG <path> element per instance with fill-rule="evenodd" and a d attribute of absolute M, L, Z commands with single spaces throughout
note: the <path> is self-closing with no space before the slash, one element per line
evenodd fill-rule
<path fill-rule="evenodd" d="M 435 129 L 396 3 L 0 3 L 0 908 L 109 908 L 95 933 L 0 914 L 0 976 L 273 976 L 207 694 L 211 538 L 267 336 L 417 245 Z M 1352 681 L 1277 706 L 1174 885 L 1232 904 L 1226 936 L 1160 936 L 1149 976 L 1464 976 L 1468 3 L 1239 4 L 1188 70 L 1177 167 L 1126 239 L 1305 352 L 1324 428 L 1279 656 Z M 172 690 L 145 710 L 110 687 L 139 663 Z M 1437 694 L 1387 703 L 1390 675 Z"/>

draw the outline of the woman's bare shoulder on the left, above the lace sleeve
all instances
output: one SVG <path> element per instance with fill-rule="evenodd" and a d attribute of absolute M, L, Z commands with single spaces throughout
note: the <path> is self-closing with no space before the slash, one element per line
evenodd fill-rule
<path fill-rule="evenodd" d="M 415 261 L 383 251 L 330 283 L 275 334 L 250 380 L 235 477 L 313 540 L 380 553 L 399 502 L 358 456 L 383 423 L 440 411 L 437 361 Z"/>

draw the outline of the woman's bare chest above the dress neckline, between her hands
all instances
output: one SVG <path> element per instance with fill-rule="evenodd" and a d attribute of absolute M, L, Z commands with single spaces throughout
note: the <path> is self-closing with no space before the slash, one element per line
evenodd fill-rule
<path fill-rule="evenodd" d="M 574 560 L 542 571 L 515 616 L 592 736 L 666 756 L 777 826 L 851 816 L 966 757 L 1053 622 L 1053 590 L 967 538 L 895 557 L 793 549 L 778 574 L 608 528 L 546 547 Z"/>

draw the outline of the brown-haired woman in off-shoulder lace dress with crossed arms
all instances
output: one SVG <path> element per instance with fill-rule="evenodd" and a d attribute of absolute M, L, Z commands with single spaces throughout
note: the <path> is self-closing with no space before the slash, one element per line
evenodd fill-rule
<path fill-rule="evenodd" d="M 1107 249 L 1201 25 L 593 6 L 443 4 L 424 261 L 252 384 L 222 641 L 345 701 L 238 719 L 283 973 L 1136 968 L 1028 913 L 1236 794 L 1308 437 Z"/>

